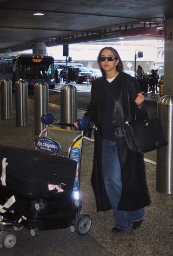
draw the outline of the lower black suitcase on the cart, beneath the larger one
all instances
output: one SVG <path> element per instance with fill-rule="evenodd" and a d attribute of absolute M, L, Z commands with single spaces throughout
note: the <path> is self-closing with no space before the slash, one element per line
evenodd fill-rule
<path fill-rule="evenodd" d="M 61 196 L 31 199 L 0 186 L 0 205 L 5 205 L 0 213 L 15 225 L 32 231 L 67 228 L 76 219 L 78 208 L 72 197 L 59 194 Z M 8 201 L 10 204 L 6 206 Z"/>

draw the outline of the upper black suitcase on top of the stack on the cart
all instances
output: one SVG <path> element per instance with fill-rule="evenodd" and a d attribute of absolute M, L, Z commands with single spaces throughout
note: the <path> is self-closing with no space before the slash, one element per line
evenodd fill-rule
<path fill-rule="evenodd" d="M 31 149 L 0 147 L 0 187 L 29 198 L 71 196 L 77 163 Z"/>

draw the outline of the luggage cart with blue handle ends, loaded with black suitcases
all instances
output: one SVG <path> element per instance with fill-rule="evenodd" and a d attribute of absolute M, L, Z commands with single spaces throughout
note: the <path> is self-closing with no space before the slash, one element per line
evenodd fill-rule
<path fill-rule="evenodd" d="M 2 167 L 2 171 L 0 170 L 0 248 L 13 247 L 16 244 L 15 231 L 22 231 L 23 228 L 29 229 L 31 236 L 37 235 L 41 230 L 67 227 L 70 228 L 71 232 L 77 231 L 79 234 L 85 235 L 92 225 L 90 216 L 82 214 L 82 199 L 80 197 L 83 130 L 77 130 L 73 124 L 57 121 L 51 113 L 44 114 L 42 121 L 46 124 L 46 127 L 34 142 L 36 150 L 1 147 L 0 161 L 7 159 L 5 161 L 8 163 L 6 174 L 9 174 L 11 170 L 8 169 L 8 165 L 15 165 L 14 159 L 17 163 L 19 162 L 16 155 L 18 157 L 22 155 L 25 161 L 28 161 L 28 155 L 30 161 L 31 159 L 35 161 L 35 158 L 37 158 L 35 161 L 37 166 L 39 167 L 40 161 L 43 169 L 46 164 L 42 162 L 46 159 L 48 163 L 55 162 L 55 164 L 56 161 L 61 160 L 61 164 L 67 163 L 69 168 L 72 165 L 73 170 L 69 171 L 69 180 L 66 178 L 66 181 L 63 182 L 61 179 L 61 183 L 56 183 L 53 179 L 49 182 L 46 190 L 45 187 L 42 187 L 41 191 L 35 189 L 32 184 L 30 190 L 24 191 L 24 189 L 19 190 L 17 188 L 17 191 L 15 191 L 15 187 L 12 187 L 10 183 L 10 175 L 6 175 L 6 180 L 4 180 Z M 84 118 L 83 123 L 84 128 L 87 126 L 87 128 L 93 130 L 97 129 L 86 118 Z M 12 158 L 11 155 L 15 155 L 15 158 Z M 36 163 L 33 166 L 36 166 Z M 52 173 L 56 176 L 56 179 L 58 179 L 57 176 L 63 177 L 64 175 L 63 170 L 54 172 Z M 72 181 L 71 177 L 73 177 Z M 34 182 L 38 185 L 37 178 Z M 27 186 L 25 185 L 25 187 Z M 70 192 L 65 192 L 67 187 Z M 44 191 L 43 195 L 42 191 Z"/>

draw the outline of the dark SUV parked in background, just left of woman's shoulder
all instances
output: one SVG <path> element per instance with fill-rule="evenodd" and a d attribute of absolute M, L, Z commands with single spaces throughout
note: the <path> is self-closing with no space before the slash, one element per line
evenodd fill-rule
<path fill-rule="evenodd" d="M 63 80 L 66 80 L 66 67 L 63 68 L 62 76 Z M 86 67 L 68 67 L 68 82 L 75 81 L 76 84 L 82 84 L 84 81 L 91 82 L 93 79 L 95 79 L 95 75 Z"/>

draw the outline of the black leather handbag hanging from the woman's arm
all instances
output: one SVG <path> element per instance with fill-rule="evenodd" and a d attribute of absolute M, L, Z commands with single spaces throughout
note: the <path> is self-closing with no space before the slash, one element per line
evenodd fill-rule
<path fill-rule="evenodd" d="M 133 153 L 149 152 L 168 144 L 161 121 L 150 118 L 149 113 L 147 118 L 138 118 L 132 123 L 125 122 L 123 133 L 128 148 Z"/>

